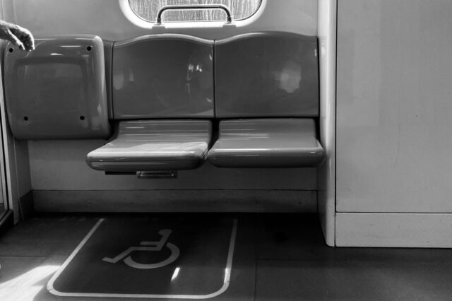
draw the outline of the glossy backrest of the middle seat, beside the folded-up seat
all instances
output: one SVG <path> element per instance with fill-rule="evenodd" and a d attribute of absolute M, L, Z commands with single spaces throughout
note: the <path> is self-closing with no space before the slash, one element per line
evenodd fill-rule
<path fill-rule="evenodd" d="M 213 117 L 213 41 L 146 35 L 113 46 L 114 119 Z"/>

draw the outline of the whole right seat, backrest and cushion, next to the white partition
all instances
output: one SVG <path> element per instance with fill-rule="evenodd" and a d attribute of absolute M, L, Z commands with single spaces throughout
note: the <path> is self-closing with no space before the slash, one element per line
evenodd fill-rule
<path fill-rule="evenodd" d="M 246 33 L 215 41 L 218 167 L 308 167 L 323 160 L 317 38 Z M 246 119 L 245 119 L 246 118 Z M 256 119 L 254 119 L 256 118 Z"/>

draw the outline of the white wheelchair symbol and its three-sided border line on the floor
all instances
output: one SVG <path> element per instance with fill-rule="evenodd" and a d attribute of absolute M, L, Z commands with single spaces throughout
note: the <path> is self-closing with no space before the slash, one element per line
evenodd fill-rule
<path fill-rule="evenodd" d="M 230 244 L 227 253 L 227 262 L 225 268 L 225 277 L 223 281 L 222 288 L 217 290 L 215 293 L 210 293 L 208 295 L 157 295 L 157 294 L 111 294 L 111 293 L 63 293 L 59 290 L 54 289 L 54 282 L 64 271 L 64 268 L 71 263 L 72 259 L 76 256 L 76 254 L 82 249 L 83 245 L 90 239 L 90 237 L 94 234 L 95 230 L 99 228 L 100 224 L 104 221 L 104 218 L 101 218 L 97 221 L 94 227 L 88 232 L 85 238 L 81 241 L 80 244 L 76 247 L 76 249 L 72 252 L 71 256 L 69 256 L 64 264 L 59 268 L 57 273 L 52 276 L 49 283 L 47 283 L 47 290 L 49 293 L 53 295 L 61 296 L 61 297 L 122 297 L 122 298 L 161 298 L 161 299 L 208 299 L 211 297 L 217 297 L 222 293 L 225 293 L 227 288 L 230 285 L 230 277 L 231 277 L 231 268 L 232 268 L 232 257 L 234 255 L 234 246 L 235 246 L 235 237 L 237 236 L 237 219 L 234 219 L 234 223 L 232 225 L 232 232 L 230 237 Z M 169 235 L 172 233 L 169 229 L 160 230 L 158 232 L 162 235 L 162 238 L 158 242 L 141 242 L 140 247 L 129 247 L 121 254 L 115 256 L 114 258 L 104 257 L 102 261 L 109 262 L 111 264 L 116 264 L 118 261 L 124 260 L 124 263 L 132 268 L 140 268 L 140 269 L 149 269 L 149 268 L 160 268 L 162 266 L 166 266 L 171 264 L 173 261 L 177 259 L 179 256 L 179 248 L 174 244 L 167 242 Z M 149 247 L 150 246 L 150 247 Z M 156 252 L 160 251 L 163 247 L 167 247 L 171 251 L 171 255 L 165 259 L 164 261 L 157 262 L 156 264 L 140 264 L 136 261 L 133 261 L 130 254 L 135 251 L 150 251 Z M 124 259 L 125 258 L 125 259 Z"/>

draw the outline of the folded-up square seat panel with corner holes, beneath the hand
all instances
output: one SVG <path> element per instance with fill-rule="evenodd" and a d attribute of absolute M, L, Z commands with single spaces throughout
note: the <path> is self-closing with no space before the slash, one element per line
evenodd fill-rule
<path fill-rule="evenodd" d="M 5 95 L 16 138 L 109 136 L 104 46 L 95 35 L 39 39 L 32 52 L 9 44 Z"/>

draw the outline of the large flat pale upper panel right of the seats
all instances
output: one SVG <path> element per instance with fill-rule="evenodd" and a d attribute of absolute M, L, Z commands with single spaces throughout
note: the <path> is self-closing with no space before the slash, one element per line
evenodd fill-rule
<path fill-rule="evenodd" d="M 338 211 L 452 213 L 451 13 L 339 2 Z"/>

